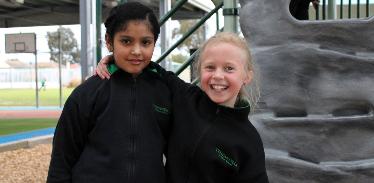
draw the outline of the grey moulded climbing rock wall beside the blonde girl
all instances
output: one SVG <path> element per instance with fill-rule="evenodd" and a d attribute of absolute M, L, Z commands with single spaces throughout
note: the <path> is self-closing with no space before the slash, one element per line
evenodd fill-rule
<path fill-rule="evenodd" d="M 290 0 L 240 0 L 261 70 L 270 182 L 374 182 L 374 16 L 297 20 Z"/>

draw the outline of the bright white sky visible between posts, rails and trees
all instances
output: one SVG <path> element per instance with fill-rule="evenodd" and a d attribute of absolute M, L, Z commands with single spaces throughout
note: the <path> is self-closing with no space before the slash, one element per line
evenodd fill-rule
<path fill-rule="evenodd" d="M 322 0 L 321 0 L 322 1 Z M 328 0 L 326 0 L 328 2 Z M 352 4 L 357 4 L 357 0 L 352 0 Z M 371 4 L 374 3 L 374 0 L 369 0 Z M 361 0 L 361 4 L 365 4 L 366 0 Z M 340 0 L 336 0 L 336 4 L 340 4 Z M 343 4 L 348 4 L 348 0 L 343 0 Z M 220 12 L 220 15 L 222 15 L 222 10 Z M 215 32 L 215 15 L 211 17 L 211 19 L 208 20 L 208 37 L 209 35 L 213 35 Z M 178 21 L 171 21 L 171 28 L 177 27 L 179 25 Z M 220 17 L 220 27 L 223 26 L 223 16 Z M 11 59 L 18 59 L 25 63 L 34 63 L 35 62 L 35 56 L 32 53 L 5 53 L 5 34 L 18 34 L 18 33 L 32 33 L 34 32 L 36 34 L 37 40 L 36 40 L 36 48 L 37 48 L 37 61 L 38 62 L 46 62 L 49 61 L 50 53 L 48 53 L 50 50 L 48 48 L 47 44 L 47 31 L 56 31 L 59 26 L 37 26 L 37 27 L 22 27 L 22 28 L 0 28 L 0 42 L 3 44 L 0 44 L 0 61 L 5 60 L 11 60 Z M 69 27 L 74 32 L 74 38 L 77 39 L 78 45 L 81 44 L 80 40 L 80 25 L 63 25 L 62 27 Z M 105 27 L 102 25 L 102 38 L 104 38 L 105 34 Z M 93 40 L 91 41 L 93 42 Z M 174 41 L 175 42 L 175 41 Z M 160 47 L 156 45 L 155 52 L 161 52 Z M 175 52 L 173 52 L 175 53 Z M 106 56 L 108 53 L 106 47 L 102 47 L 102 56 Z M 155 53 L 157 54 L 157 53 Z M 160 53 L 158 53 L 160 54 Z"/>

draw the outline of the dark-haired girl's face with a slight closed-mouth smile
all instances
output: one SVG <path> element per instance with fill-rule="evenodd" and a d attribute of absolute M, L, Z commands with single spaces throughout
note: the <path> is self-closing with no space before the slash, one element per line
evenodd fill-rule
<path fill-rule="evenodd" d="M 105 34 L 109 51 L 113 51 L 116 66 L 136 79 L 150 63 L 154 50 L 154 35 L 145 21 L 130 21 L 126 29 L 118 31 L 109 40 Z"/>

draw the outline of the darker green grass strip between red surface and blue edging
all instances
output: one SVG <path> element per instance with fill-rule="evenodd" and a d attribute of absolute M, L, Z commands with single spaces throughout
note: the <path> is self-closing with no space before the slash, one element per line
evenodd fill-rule
<path fill-rule="evenodd" d="M 0 119 L 0 136 L 56 127 L 58 118 Z"/>

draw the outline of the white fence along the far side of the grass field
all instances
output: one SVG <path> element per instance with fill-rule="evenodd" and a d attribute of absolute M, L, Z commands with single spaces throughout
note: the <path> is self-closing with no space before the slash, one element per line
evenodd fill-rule
<path fill-rule="evenodd" d="M 81 68 L 61 69 L 62 86 L 68 86 L 71 78 L 81 79 Z M 38 69 L 38 86 L 46 79 L 48 88 L 59 88 L 59 70 L 55 68 Z M 0 89 L 36 88 L 35 69 L 31 67 L 0 68 Z"/>

